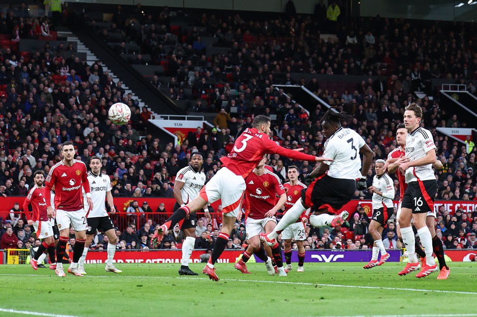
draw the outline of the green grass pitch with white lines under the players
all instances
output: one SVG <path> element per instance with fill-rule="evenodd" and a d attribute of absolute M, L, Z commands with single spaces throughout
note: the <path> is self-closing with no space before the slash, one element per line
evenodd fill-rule
<path fill-rule="evenodd" d="M 263 263 L 250 263 L 252 274 L 219 263 L 219 282 L 203 274 L 179 277 L 180 264 L 121 263 L 118 275 L 89 264 L 87 276 L 65 278 L 47 268 L 1 265 L 0 316 L 477 316 L 476 262 L 452 262 L 444 281 L 437 273 L 399 277 L 403 263 L 370 270 L 363 263 L 305 263 L 303 273 L 293 264 L 279 277 Z M 204 264 L 190 267 L 202 272 Z"/>

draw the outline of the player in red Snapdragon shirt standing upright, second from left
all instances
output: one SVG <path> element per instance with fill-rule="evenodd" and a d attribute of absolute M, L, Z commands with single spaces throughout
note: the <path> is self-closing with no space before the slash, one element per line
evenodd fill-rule
<path fill-rule="evenodd" d="M 88 229 L 81 193 L 83 188 L 87 197 L 88 210 L 93 208 L 93 202 L 89 190 L 86 165 L 79 160 L 75 160 L 76 150 L 73 142 L 64 142 L 61 153 L 63 159 L 53 165 L 45 182 L 46 201 L 50 201 L 51 189 L 55 188 L 56 215 L 51 206 L 47 207 L 47 211 L 56 216 L 56 222 L 60 230 L 60 241 L 56 246 L 58 262 L 55 272 L 58 276 L 66 276 L 61 259 L 66 251 L 71 225 L 73 230 L 75 230 L 76 243 L 73 247 L 73 261 L 68 268 L 68 273 L 75 276 L 83 276 L 78 271 L 78 261 L 83 253 L 86 230 Z"/>

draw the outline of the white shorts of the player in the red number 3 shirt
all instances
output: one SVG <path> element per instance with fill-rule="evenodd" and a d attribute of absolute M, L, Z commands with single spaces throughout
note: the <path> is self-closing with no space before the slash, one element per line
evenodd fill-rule
<path fill-rule="evenodd" d="M 199 196 L 210 203 L 221 199 L 224 216 L 237 217 L 245 187 L 243 177 L 235 175 L 227 167 L 222 167 L 200 190 Z"/>

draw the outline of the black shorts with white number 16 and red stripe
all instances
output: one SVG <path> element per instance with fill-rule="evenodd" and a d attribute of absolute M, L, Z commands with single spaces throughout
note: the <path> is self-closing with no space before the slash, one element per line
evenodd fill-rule
<path fill-rule="evenodd" d="M 401 208 L 409 208 L 412 213 L 434 211 L 436 192 L 436 180 L 410 182 L 407 184 L 404 197 L 402 197 Z"/>

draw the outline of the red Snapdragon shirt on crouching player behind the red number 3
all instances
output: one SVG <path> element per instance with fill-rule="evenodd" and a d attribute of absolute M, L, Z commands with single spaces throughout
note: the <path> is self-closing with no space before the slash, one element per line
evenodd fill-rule
<path fill-rule="evenodd" d="M 280 196 L 285 193 L 278 176 L 267 169 L 262 176 L 250 173 L 245 185 L 245 218 L 265 218 L 265 214 L 277 203 L 277 194 Z"/>

